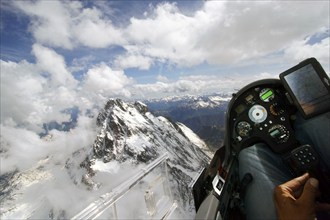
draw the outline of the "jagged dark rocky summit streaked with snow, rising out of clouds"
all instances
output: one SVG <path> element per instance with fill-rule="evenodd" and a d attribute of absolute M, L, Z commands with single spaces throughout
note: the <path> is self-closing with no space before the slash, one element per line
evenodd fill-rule
<path fill-rule="evenodd" d="M 97 124 L 101 129 L 93 145 L 94 157 L 104 162 L 133 158 L 136 163 L 147 162 L 165 151 L 170 152 L 173 161 L 182 157 L 187 167 L 189 160 L 207 160 L 205 153 L 177 124 L 161 116 L 155 117 L 141 102 L 129 104 L 110 99 L 100 111 Z"/>

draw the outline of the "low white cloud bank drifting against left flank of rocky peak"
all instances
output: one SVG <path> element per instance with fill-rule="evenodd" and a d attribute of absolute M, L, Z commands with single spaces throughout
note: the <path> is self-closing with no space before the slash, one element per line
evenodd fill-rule
<path fill-rule="evenodd" d="M 49 158 L 63 167 L 66 158 L 78 149 L 90 147 L 96 135 L 95 121 L 80 115 L 77 127 L 70 132 L 52 130 L 47 141 L 34 131 L 1 124 L 1 173 L 25 171 L 41 159 Z M 19 162 L 18 162 L 19 161 Z"/>

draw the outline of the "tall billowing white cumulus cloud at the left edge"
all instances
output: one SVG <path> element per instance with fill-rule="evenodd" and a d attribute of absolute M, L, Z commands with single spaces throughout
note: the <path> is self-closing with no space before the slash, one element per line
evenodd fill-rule
<path fill-rule="evenodd" d="M 32 53 L 36 63 L 1 60 L 1 123 L 41 132 L 44 123 L 70 119 L 63 110 L 79 104 L 78 82 L 54 50 L 35 44 Z"/>

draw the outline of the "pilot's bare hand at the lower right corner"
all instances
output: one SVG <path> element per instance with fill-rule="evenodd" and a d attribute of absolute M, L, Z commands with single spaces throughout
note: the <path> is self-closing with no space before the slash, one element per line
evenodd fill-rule
<path fill-rule="evenodd" d="M 277 217 L 285 219 L 315 219 L 318 210 L 330 210 L 330 204 L 319 204 L 315 201 L 319 182 L 309 178 L 306 173 L 275 187 L 274 199 Z"/>

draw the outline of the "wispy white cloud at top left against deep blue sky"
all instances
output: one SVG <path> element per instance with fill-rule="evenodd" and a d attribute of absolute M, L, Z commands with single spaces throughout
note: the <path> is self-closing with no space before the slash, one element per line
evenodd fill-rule
<path fill-rule="evenodd" d="M 15 1 L 31 18 L 30 31 L 40 44 L 73 49 L 104 48 L 124 43 L 120 29 L 93 7 L 78 1 Z"/>

